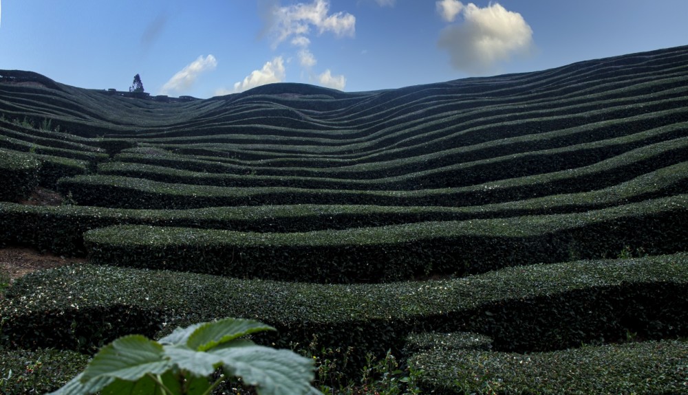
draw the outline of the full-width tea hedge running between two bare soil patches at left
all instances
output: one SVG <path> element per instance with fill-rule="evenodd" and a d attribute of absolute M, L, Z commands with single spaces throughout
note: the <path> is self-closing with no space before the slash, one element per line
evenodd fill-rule
<path fill-rule="evenodd" d="M 195 210 L 127 210 L 105 207 L 28 207 L 0 203 L 0 240 L 84 255 L 83 233 L 110 225 L 230 229 L 241 232 L 308 232 L 426 221 L 466 221 L 564 214 L 655 199 L 688 187 L 688 162 L 643 174 L 603 190 L 469 207 L 371 205 L 265 205 Z"/>

